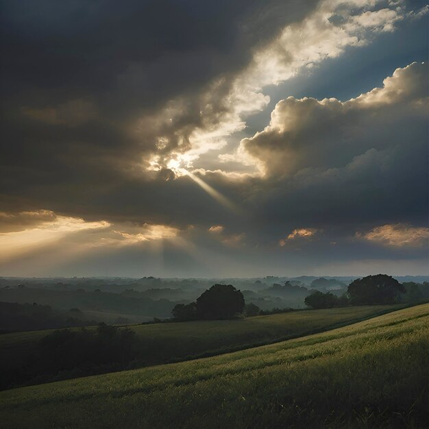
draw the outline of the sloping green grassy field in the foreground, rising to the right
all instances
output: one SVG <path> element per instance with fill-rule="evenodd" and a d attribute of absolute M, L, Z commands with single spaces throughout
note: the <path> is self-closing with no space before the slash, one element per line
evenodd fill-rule
<path fill-rule="evenodd" d="M 171 365 L 0 393 L 5 428 L 424 428 L 429 304 Z"/>

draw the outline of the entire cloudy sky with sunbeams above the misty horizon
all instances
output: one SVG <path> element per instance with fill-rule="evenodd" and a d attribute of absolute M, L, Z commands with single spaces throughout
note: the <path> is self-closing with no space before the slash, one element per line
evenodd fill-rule
<path fill-rule="evenodd" d="M 0 0 L 0 275 L 429 274 L 411 0 Z"/>

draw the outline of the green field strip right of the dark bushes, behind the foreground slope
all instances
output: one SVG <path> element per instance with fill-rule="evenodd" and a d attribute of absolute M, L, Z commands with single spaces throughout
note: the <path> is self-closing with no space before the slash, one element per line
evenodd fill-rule
<path fill-rule="evenodd" d="M 321 332 L 384 314 L 400 306 L 356 306 L 304 310 L 235 320 L 134 326 L 141 340 L 166 343 L 173 358 L 219 354 Z"/>

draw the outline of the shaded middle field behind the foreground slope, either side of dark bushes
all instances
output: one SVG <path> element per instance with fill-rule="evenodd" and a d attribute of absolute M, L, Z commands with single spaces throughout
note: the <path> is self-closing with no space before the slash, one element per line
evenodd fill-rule
<path fill-rule="evenodd" d="M 99 372 L 132 369 L 213 356 L 321 332 L 389 312 L 399 306 L 360 306 L 286 312 L 236 320 L 191 321 L 131 326 L 136 332 L 136 360 Z M 28 369 L 37 361 L 38 341 L 53 330 L 16 332 L 0 336 L 0 385 L 38 384 L 84 376 L 97 371 L 45 373 Z M 40 367 L 40 365 L 38 365 Z M 27 368 L 25 377 L 22 368 Z M 22 376 L 20 376 L 22 374 Z M 10 382 L 8 382 L 10 380 Z"/>

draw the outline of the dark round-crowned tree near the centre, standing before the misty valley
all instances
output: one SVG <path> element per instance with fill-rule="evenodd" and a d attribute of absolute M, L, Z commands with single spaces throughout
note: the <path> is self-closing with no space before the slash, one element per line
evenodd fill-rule
<path fill-rule="evenodd" d="M 232 284 L 215 284 L 197 298 L 201 319 L 231 319 L 243 312 L 244 297 Z"/>

